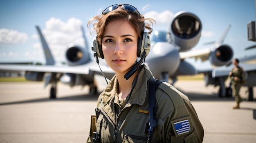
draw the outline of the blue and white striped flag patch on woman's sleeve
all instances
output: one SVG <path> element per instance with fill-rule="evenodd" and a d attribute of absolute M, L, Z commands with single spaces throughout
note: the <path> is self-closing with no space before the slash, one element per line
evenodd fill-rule
<path fill-rule="evenodd" d="M 175 130 L 177 135 L 184 134 L 190 131 L 189 120 L 183 120 L 176 123 L 173 123 L 175 126 Z"/>

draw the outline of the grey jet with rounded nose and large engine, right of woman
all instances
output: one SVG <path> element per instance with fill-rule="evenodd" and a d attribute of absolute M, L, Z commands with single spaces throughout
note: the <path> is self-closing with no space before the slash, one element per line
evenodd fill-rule
<path fill-rule="evenodd" d="M 151 50 L 146 57 L 154 77 L 175 84 L 178 75 L 196 75 L 198 69 L 186 58 L 194 57 L 202 62 L 209 60 L 218 67 L 231 63 L 234 52 L 231 46 L 223 44 L 231 25 L 210 48 L 191 50 L 199 41 L 202 22 L 197 15 L 180 11 L 174 15 L 168 31 L 155 31 L 151 39 Z M 208 69 L 212 71 L 213 68 Z"/>

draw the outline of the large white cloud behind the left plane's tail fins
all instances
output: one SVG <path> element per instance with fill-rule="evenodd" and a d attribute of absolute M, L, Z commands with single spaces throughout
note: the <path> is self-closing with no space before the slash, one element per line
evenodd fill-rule
<path fill-rule="evenodd" d="M 85 46 L 81 25 L 82 21 L 76 18 L 70 18 L 67 22 L 58 18 L 50 18 L 45 22 L 45 29 L 42 30 L 42 33 L 56 61 L 65 60 L 65 52 L 69 44 Z M 36 36 L 33 35 L 33 37 Z M 37 48 L 38 46 L 41 47 L 41 43 L 34 44 L 33 47 Z"/>

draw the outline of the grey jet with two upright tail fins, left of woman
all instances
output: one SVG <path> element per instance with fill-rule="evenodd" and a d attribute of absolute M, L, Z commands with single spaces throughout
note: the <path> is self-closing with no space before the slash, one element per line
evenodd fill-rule
<path fill-rule="evenodd" d="M 97 64 L 92 59 L 89 53 L 90 48 L 85 37 L 83 26 L 83 38 L 85 40 L 85 48 L 77 45 L 69 45 L 66 51 L 66 59 L 68 66 L 58 65 L 54 61 L 54 57 L 47 45 L 47 42 L 39 28 L 36 26 L 40 40 L 44 49 L 46 64 L 42 66 L 36 65 L 21 65 L 21 64 L 1 64 L 2 71 L 25 71 L 25 78 L 30 81 L 45 81 L 45 86 L 51 84 L 50 99 L 56 98 L 57 82 L 61 81 L 68 84 L 70 87 L 81 85 L 89 85 L 90 92 L 97 93 L 96 81 L 94 80 L 95 73 L 101 73 Z M 112 71 L 105 69 L 104 73 L 108 77 L 113 76 Z"/>

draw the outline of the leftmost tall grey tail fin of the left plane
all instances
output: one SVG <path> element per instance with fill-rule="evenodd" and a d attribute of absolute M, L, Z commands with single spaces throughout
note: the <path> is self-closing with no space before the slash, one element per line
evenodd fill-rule
<path fill-rule="evenodd" d="M 41 43 L 43 46 L 43 51 L 45 53 L 46 65 L 54 65 L 55 64 L 54 58 L 52 56 L 49 46 L 48 46 L 47 42 L 45 41 L 45 38 L 44 38 L 39 26 L 36 26 L 36 29 L 40 35 L 40 40 L 41 40 Z"/>

